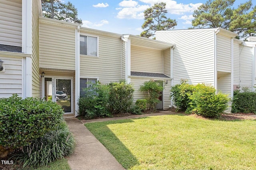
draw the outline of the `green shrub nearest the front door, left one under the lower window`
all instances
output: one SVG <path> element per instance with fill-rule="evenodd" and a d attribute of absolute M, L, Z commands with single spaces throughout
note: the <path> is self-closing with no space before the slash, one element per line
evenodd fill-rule
<path fill-rule="evenodd" d="M 78 99 L 79 115 L 88 119 L 96 116 L 110 116 L 109 106 L 109 86 L 106 84 L 92 84 L 84 88 L 84 95 Z"/>

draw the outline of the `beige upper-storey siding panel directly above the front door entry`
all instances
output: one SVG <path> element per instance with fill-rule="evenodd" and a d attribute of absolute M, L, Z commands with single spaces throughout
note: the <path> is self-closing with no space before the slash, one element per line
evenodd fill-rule
<path fill-rule="evenodd" d="M 40 67 L 75 69 L 75 29 L 39 23 Z"/>

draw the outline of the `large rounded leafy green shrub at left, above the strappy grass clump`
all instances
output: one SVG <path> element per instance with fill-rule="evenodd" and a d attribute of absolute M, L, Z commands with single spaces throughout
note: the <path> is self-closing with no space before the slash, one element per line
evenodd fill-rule
<path fill-rule="evenodd" d="M 63 113 L 58 104 L 40 98 L 23 100 L 14 94 L 0 99 L 0 148 L 5 150 L 0 157 L 55 129 Z"/>

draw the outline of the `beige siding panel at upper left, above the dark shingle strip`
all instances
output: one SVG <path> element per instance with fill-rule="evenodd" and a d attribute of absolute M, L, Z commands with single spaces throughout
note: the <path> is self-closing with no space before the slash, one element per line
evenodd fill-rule
<path fill-rule="evenodd" d="M 0 44 L 22 46 L 22 0 L 0 1 Z"/>

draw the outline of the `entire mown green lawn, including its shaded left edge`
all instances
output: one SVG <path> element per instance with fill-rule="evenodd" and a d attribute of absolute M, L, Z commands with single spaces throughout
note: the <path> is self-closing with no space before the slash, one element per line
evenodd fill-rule
<path fill-rule="evenodd" d="M 256 121 L 164 115 L 85 126 L 126 169 L 256 169 Z"/>

